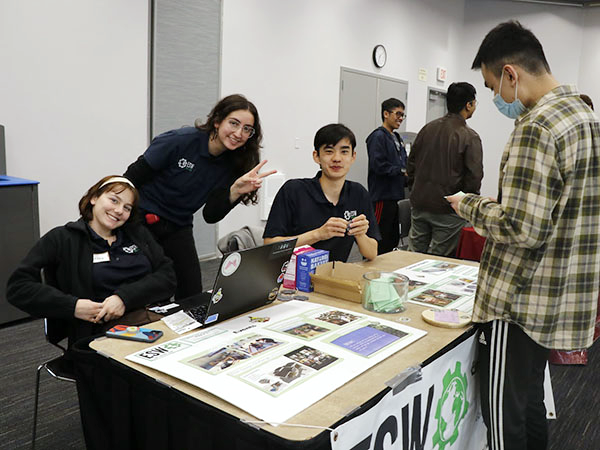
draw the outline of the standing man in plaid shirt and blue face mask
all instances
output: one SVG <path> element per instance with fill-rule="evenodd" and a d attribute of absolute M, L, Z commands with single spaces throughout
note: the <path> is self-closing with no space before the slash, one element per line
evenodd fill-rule
<path fill-rule="evenodd" d="M 481 69 L 501 113 L 516 119 L 498 199 L 447 198 L 487 237 L 473 321 L 480 324 L 481 407 L 492 450 L 545 449 L 550 349 L 589 347 L 600 285 L 600 123 L 552 76 L 518 22 L 483 40 Z"/>

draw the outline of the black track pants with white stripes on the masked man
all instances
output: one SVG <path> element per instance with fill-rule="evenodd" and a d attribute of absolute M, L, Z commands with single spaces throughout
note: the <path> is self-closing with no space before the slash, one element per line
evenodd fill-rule
<path fill-rule="evenodd" d="M 544 369 L 549 350 L 515 324 L 479 324 L 481 410 L 490 450 L 545 450 Z"/>

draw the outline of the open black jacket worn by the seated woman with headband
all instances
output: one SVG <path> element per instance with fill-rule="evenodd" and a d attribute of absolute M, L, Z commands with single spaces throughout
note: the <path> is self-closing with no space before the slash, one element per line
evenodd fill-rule
<path fill-rule="evenodd" d="M 121 285 L 114 293 L 123 300 L 126 311 L 168 299 L 176 284 L 173 263 L 143 225 L 126 223 L 122 230 L 146 255 L 152 272 Z M 9 278 L 7 299 L 32 316 L 65 320 L 69 345 L 95 334 L 100 325 L 74 316 L 77 300 L 94 295 L 92 260 L 91 238 L 83 219 L 54 228 L 33 246 Z M 53 285 L 42 284 L 42 268 L 51 271 Z"/>

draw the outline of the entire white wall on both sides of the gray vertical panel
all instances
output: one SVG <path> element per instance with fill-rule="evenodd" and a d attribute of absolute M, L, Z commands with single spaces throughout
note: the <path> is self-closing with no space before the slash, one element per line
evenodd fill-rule
<path fill-rule="evenodd" d="M 223 0 L 221 94 L 254 101 L 269 166 L 306 177 L 317 169 L 315 131 L 337 121 L 341 66 L 408 81 L 411 131 L 425 122 L 428 86 L 469 81 L 480 100 L 469 123 L 484 142 L 483 193 L 495 195 L 512 122 L 470 66 L 485 34 L 510 18 L 540 38 L 559 81 L 578 83 L 600 105 L 600 8 L 505 0 Z M 383 69 L 371 63 L 377 43 L 388 50 Z M 147 52 L 147 0 L 0 2 L 7 169 L 41 182 L 42 233 L 76 218 L 83 191 L 145 149 Z M 448 69 L 445 84 L 434 81 L 438 65 Z M 427 82 L 417 79 L 421 67 Z M 257 207 L 237 207 L 219 235 L 244 224 L 261 224 Z"/>

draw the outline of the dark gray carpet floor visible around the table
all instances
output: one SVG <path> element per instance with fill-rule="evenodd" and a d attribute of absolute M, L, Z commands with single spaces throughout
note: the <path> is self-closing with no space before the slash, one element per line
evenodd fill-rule
<path fill-rule="evenodd" d="M 216 262 L 202 262 L 204 286 L 210 286 Z M 550 450 L 600 449 L 600 355 L 596 344 L 587 366 L 551 366 L 558 418 L 550 421 Z M 45 342 L 43 322 L 24 320 L 0 327 L 0 449 L 31 445 L 37 366 L 59 354 Z M 71 383 L 42 374 L 36 448 L 84 449 L 77 391 Z M 185 449 L 182 449 L 185 450 Z M 460 449 L 453 449 L 460 450 Z"/>

